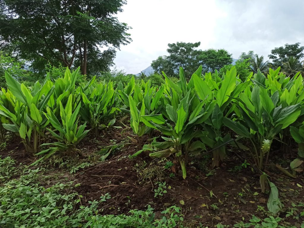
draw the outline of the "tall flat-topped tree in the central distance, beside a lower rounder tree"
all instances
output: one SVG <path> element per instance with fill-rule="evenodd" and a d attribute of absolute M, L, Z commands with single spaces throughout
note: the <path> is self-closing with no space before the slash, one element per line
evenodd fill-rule
<path fill-rule="evenodd" d="M 176 75 L 179 66 L 184 69 L 186 77 L 190 77 L 201 64 L 201 50 L 197 49 L 201 43 L 169 43 L 168 56 L 159 56 L 152 61 L 151 66 L 157 73 L 164 71 L 168 75 Z"/>

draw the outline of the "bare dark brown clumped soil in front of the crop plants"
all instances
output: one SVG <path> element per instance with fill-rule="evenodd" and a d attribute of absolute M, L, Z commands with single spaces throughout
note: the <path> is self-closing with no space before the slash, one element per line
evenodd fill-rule
<path fill-rule="evenodd" d="M 130 209 L 145 210 L 151 205 L 160 215 L 169 206 L 177 205 L 181 207 L 185 224 L 189 227 L 233 225 L 239 221 L 248 222 L 253 215 L 259 218 L 271 216 L 267 212 L 269 195 L 261 192 L 259 175 L 254 174 L 248 162 L 236 156 L 234 152 L 240 151 L 234 151 L 235 148 L 230 149 L 230 156 L 219 168 L 209 169 L 210 159 L 202 159 L 200 164 L 188 164 L 184 180 L 174 165 L 164 168 L 167 161 L 153 160 L 145 154 L 129 158 L 138 148 L 127 136 L 133 137 L 132 132 L 111 130 L 107 132 L 107 138 L 98 139 L 88 135 L 78 146 L 81 155 L 77 159 L 72 159 L 72 162 L 64 158 L 45 161 L 42 166 L 49 168 L 50 175 L 45 186 L 72 181 L 77 186 L 73 191 L 83 196 L 81 205 L 88 205 L 109 193 L 111 198 L 100 206 L 102 214 L 127 214 Z M 104 161 L 98 161 L 101 148 L 123 143 L 126 145 L 116 148 Z M 21 143 L 7 142 L 1 153 L 2 157 L 16 159 L 16 164 L 34 162 L 35 158 L 24 155 L 23 150 Z M 284 157 L 286 162 L 281 165 L 287 167 L 294 156 L 296 152 L 277 153 L 274 156 L 276 160 L 271 163 L 276 164 Z M 277 216 L 284 219 L 286 226 L 300 227 L 304 220 L 304 215 L 299 217 L 304 211 L 303 173 L 291 179 L 273 167 L 269 166 L 268 175 L 278 187 L 279 198 L 284 204 Z M 167 193 L 154 197 L 158 184 L 164 182 Z"/>

